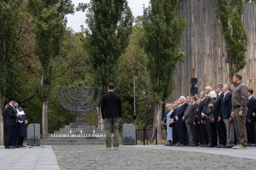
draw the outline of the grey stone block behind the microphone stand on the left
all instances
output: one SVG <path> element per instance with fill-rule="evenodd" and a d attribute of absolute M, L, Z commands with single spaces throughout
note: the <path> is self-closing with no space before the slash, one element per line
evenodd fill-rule
<path fill-rule="evenodd" d="M 34 146 L 34 124 L 27 126 L 26 145 Z M 35 145 L 40 145 L 40 124 L 35 123 Z"/>

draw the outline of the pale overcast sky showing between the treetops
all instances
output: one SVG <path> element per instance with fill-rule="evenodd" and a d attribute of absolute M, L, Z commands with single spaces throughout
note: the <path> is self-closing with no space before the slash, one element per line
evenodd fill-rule
<path fill-rule="evenodd" d="M 79 3 L 89 3 L 90 0 L 72 0 L 75 7 Z M 143 15 L 143 4 L 148 6 L 150 0 L 127 0 L 129 7 L 132 9 L 132 15 L 137 17 L 138 15 Z M 67 27 L 71 27 L 75 32 L 81 31 L 81 25 L 85 26 L 85 13 L 79 11 L 74 15 L 67 15 Z"/>

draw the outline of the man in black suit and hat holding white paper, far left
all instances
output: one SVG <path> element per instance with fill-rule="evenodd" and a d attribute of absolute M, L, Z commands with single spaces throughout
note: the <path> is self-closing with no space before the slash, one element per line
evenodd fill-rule
<path fill-rule="evenodd" d="M 11 142 L 13 139 L 13 131 L 17 122 L 16 119 L 18 118 L 18 116 L 20 116 L 20 114 L 16 114 L 13 109 L 15 101 L 16 101 L 15 97 L 9 98 L 9 105 L 6 108 L 7 110 L 7 121 L 6 121 L 7 131 L 6 131 L 6 143 L 5 143 L 6 149 L 15 148 L 14 146 L 11 146 Z"/>

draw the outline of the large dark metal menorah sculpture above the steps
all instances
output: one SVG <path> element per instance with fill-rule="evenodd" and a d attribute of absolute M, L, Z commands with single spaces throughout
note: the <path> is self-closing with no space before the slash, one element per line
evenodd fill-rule
<path fill-rule="evenodd" d="M 94 109 L 99 104 L 99 102 L 101 100 L 101 97 L 102 97 L 102 87 L 97 87 L 98 95 L 97 95 L 97 99 L 95 100 L 93 105 L 89 105 L 89 106 L 86 106 L 86 107 L 83 107 L 83 105 L 86 105 L 86 104 L 90 103 L 94 98 L 95 87 L 91 87 L 91 89 L 92 89 L 91 96 L 86 100 L 83 100 L 83 97 L 88 95 L 89 87 L 84 87 L 84 89 L 85 89 L 84 93 L 82 92 L 83 87 L 81 87 L 81 86 L 76 87 L 77 93 L 75 93 L 75 87 L 74 86 L 71 86 L 70 89 L 71 89 L 71 94 L 76 97 L 76 100 L 73 100 L 68 96 L 68 87 L 67 86 L 64 86 L 64 96 L 65 96 L 66 100 L 69 103 L 75 104 L 76 105 L 75 107 L 66 105 L 66 103 L 64 103 L 64 101 L 62 100 L 62 87 L 61 86 L 57 87 L 58 100 L 59 100 L 60 104 L 65 109 L 68 109 L 68 110 L 71 110 L 71 111 L 76 111 L 76 118 L 75 118 L 76 123 L 83 123 L 84 122 L 83 112 Z"/>

